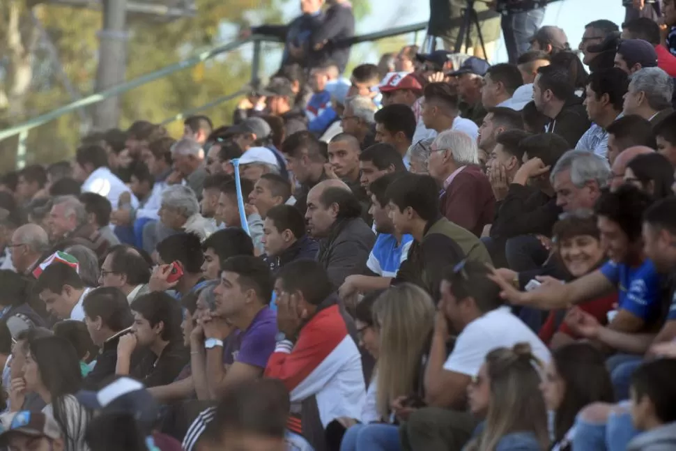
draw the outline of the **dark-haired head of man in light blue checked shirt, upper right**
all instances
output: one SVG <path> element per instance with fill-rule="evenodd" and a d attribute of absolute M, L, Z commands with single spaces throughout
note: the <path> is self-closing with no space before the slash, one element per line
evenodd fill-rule
<path fill-rule="evenodd" d="M 622 113 L 628 87 L 629 77 L 618 68 L 592 72 L 587 79 L 584 102 L 589 120 L 601 128 L 608 128 Z"/>

